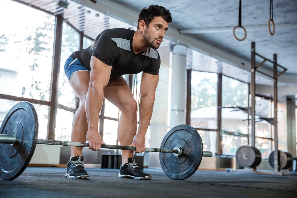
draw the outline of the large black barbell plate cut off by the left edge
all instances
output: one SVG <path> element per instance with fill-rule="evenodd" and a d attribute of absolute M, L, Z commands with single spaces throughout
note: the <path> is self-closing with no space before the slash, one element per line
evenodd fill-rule
<path fill-rule="evenodd" d="M 5 116 L 1 134 L 15 135 L 15 144 L 0 144 L 0 177 L 17 178 L 29 164 L 38 137 L 38 119 L 34 106 L 29 102 L 15 104 Z"/>

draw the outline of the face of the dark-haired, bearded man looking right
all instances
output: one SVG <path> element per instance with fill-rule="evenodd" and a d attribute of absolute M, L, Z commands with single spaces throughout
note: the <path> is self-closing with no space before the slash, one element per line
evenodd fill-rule
<path fill-rule="evenodd" d="M 168 30 L 168 23 L 162 17 L 155 17 L 143 34 L 143 38 L 153 48 L 158 49 Z"/>

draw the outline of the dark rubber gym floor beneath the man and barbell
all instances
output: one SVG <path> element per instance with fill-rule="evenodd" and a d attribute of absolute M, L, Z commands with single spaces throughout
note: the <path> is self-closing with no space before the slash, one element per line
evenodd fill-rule
<path fill-rule="evenodd" d="M 297 174 L 197 170 L 173 180 L 145 168 L 150 180 L 118 178 L 119 170 L 86 167 L 89 180 L 65 178 L 64 167 L 27 167 L 15 180 L 0 180 L 0 197 L 297 197 Z"/>

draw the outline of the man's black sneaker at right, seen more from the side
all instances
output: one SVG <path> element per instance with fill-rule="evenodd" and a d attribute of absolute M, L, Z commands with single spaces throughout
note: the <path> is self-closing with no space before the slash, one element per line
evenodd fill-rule
<path fill-rule="evenodd" d="M 119 178 L 150 179 L 151 175 L 143 172 L 134 158 L 128 158 L 128 163 L 121 165 Z"/>

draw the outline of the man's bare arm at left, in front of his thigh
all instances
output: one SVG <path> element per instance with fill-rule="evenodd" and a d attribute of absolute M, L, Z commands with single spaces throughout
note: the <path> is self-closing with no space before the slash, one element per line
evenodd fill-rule
<path fill-rule="evenodd" d="M 91 57 L 89 89 L 86 96 L 86 117 L 88 122 L 87 142 L 91 150 L 101 148 L 101 136 L 98 133 L 99 113 L 103 102 L 103 89 L 109 82 L 111 66 L 98 58 Z"/>

